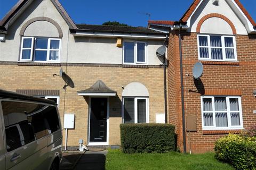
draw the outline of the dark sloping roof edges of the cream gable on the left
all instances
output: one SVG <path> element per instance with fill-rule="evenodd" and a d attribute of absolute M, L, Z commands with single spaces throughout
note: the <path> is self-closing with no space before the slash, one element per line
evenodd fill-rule
<path fill-rule="evenodd" d="M 20 11 L 20 9 L 27 4 L 29 1 L 34 1 L 34 0 L 19 0 L 17 4 L 15 4 L 11 10 L 4 16 L 2 21 L 0 21 L 0 27 L 5 27 L 5 24 L 10 21 L 10 19 Z M 70 28 L 76 29 L 76 24 L 74 21 L 70 18 L 66 10 L 63 8 L 63 6 L 60 4 L 58 0 L 51 0 L 53 5 L 57 8 L 63 19 L 67 22 Z M 7 27 L 8 28 L 8 25 Z"/>

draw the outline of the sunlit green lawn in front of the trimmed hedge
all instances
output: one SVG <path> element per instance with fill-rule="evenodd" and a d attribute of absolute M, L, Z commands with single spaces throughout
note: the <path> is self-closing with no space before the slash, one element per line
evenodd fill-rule
<path fill-rule="evenodd" d="M 228 164 L 220 163 L 214 153 L 185 155 L 178 152 L 166 154 L 124 154 L 120 150 L 109 150 L 106 169 L 193 169 L 227 170 L 233 169 Z"/>

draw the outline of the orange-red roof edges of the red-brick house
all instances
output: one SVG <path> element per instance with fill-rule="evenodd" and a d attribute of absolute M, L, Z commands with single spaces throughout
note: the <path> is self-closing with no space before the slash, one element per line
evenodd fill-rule
<path fill-rule="evenodd" d="M 188 10 L 185 12 L 185 14 L 183 14 L 183 16 L 180 19 L 180 22 L 187 22 L 188 19 L 190 18 L 191 14 L 193 14 L 193 12 L 196 10 L 197 5 L 199 5 L 199 3 L 202 0 L 194 0 L 194 2 L 189 6 Z M 247 17 L 247 19 L 251 22 L 251 24 L 253 25 L 253 27 L 256 27 L 256 23 L 255 21 L 252 19 L 252 16 L 245 10 L 244 6 L 242 5 L 241 2 L 239 2 L 239 0 L 234 0 L 236 2 L 236 4 L 238 5 L 238 7 L 242 10 L 242 12 L 245 14 L 245 16 Z M 148 24 L 161 24 L 161 25 L 174 25 L 174 21 L 148 21 Z"/>

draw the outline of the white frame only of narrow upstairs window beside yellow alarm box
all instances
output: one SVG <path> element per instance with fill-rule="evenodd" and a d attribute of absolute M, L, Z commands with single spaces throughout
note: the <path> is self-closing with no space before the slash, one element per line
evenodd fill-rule
<path fill-rule="evenodd" d="M 127 63 L 127 62 L 124 62 L 124 50 L 125 50 L 125 43 L 128 42 L 128 43 L 134 43 L 134 62 L 133 63 Z M 139 62 L 138 61 L 138 52 L 137 52 L 137 47 L 138 47 L 138 43 L 144 43 L 145 44 L 145 62 Z M 123 43 L 123 64 L 125 65 L 138 65 L 138 64 L 141 64 L 141 65 L 147 65 L 147 61 L 148 61 L 148 44 L 146 41 L 134 41 L 134 40 L 124 40 L 124 43 Z"/>

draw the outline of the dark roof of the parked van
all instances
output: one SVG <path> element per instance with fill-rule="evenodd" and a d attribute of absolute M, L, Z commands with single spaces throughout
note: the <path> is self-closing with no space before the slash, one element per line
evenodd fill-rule
<path fill-rule="evenodd" d="M 28 95 L 21 95 L 21 94 L 18 94 L 17 92 L 6 91 L 6 90 L 0 90 L 0 98 L 36 101 L 36 102 L 40 102 L 40 103 L 57 105 L 53 100 L 48 100 L 48 99 L 43 99 L 43 98 L 28 96 Z"/>

